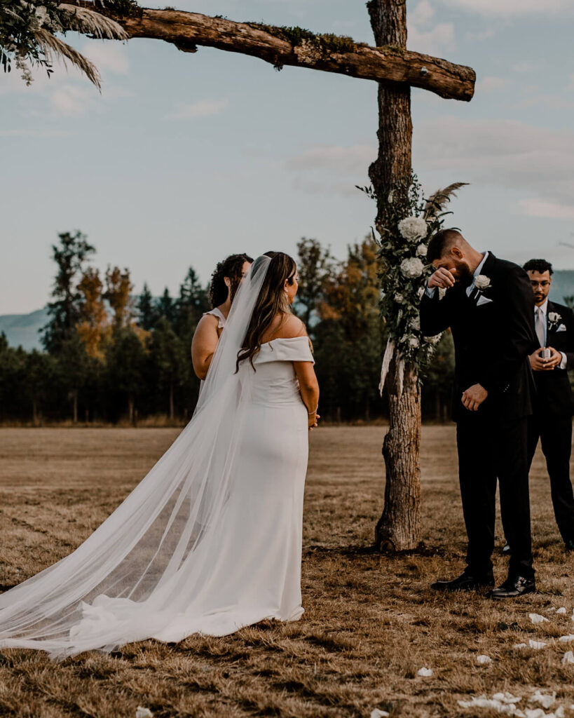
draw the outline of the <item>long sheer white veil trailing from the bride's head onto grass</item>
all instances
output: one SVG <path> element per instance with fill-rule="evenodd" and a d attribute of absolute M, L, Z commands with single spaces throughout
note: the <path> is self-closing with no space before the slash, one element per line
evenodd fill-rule
<path fill-rule="evenodd" d="M 174 444 L 70 556 L 0 596 L 0 646 L 53 658 L 112 651 L 161 638 L 197 598 L 225 531 L 253 375 L 248 362 L 236 372 L 237 352 L 269 261 L 258 258 L 240 284 L 194 416 Z"/>

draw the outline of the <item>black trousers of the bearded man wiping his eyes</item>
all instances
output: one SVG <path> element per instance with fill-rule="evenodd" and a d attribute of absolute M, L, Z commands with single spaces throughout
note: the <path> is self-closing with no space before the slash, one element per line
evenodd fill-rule
<path fill-rule="evenodd" d="M 456 425 L 456 442 L 469 572 L 492 568 L 498 479 L 502 526 L 512 546 L 509 574 L 533 577 L 526 417 L 503 423 L 469 411 Z"/>

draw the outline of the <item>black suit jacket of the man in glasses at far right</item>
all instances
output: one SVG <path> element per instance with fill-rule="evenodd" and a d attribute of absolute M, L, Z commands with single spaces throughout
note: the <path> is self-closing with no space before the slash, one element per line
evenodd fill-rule
<path fill-rule="evenodd" d="M 559 314 L 560 320 L 550 322 L 552 312 Z M 574 312 L 563 304 L 555 304 L 549 300 L 546 319 L 546 345 L 565 353 L 566 368 L 533 372 L 536 384 L 535 410 L 542 414 L 572 416 L 573 398 L 568 369 L 574 368 Z"/>

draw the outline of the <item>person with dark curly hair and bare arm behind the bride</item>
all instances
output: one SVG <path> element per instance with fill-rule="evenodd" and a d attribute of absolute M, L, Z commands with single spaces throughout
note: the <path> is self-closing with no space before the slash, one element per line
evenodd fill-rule
<path fill-rule="evenodd" d="M 248 254 L 231 254 L 217 264 L 211 276 L 212 309 L 199 320 L 192 340 L 193 369 L 202 380 L 207 376 L 239 283 L 252 263 Z"/>

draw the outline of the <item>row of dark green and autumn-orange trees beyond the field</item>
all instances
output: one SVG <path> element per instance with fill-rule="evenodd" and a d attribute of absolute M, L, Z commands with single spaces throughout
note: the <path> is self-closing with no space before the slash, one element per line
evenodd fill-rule
<path fill-rule="evenodd" d="M 197 401 L 190 347 L 210 309 L 207 287 L 192 267 L 177 297 L 154 298 L 147 284 L 133 296 L 128 269 L 90 266 L 95 248 L 80 232 L 52 247 L 56 274 L 44 351 L 11 348 L 0 335 L 0 421 L 71 419 L 117 422 L 149 416 L 185 421 Z M 386 337 L 379 316 L 376 245 L 366 238 L 338 261 L 314 239 L 298 243 L 299 292 L 294 309 L 314 342 L 325 419 L 373 419 Z M 449 338 L 439 345 L 424 398 L 443 416 L 452 373 Z"/>

